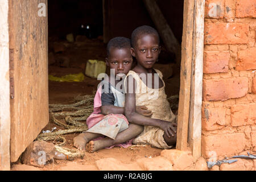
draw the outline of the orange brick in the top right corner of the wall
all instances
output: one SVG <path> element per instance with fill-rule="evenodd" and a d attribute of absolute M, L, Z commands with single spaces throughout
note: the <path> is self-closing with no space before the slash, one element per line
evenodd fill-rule
<path fill-rule="evenodd" d="M 256 18 L 256 0 L 237 0 L 237 18 Z"/>

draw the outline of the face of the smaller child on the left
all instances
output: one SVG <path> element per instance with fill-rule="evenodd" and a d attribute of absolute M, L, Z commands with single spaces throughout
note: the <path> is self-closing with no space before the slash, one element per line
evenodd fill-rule
<path fill-rule="evenodd" d="M 110 69 L 114 69 L 115 76 L 122 77 L 127 75 L 133 64 L 133 57 L 129 48 L 114 48 L 111 47 L 109 50 L 109 56 L 106 57 L 106 65 Z"/>

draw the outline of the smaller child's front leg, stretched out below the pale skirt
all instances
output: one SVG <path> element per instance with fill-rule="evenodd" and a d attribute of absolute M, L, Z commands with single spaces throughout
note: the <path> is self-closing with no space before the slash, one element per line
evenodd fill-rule
<path fill-rule="evenodd" d="M 95 151 L 101 150 L 102 148 L 105 148 L 105 147 L 110 147 L 115 144 L 127 142 L 128 140 L 130 140 L 134 137 L 137 137 L 137 135 L 141 134 L 143 129 L 144 129 L 143 126 L 130 123 L 129 128 L 118 133 L 117 137 L 115 137 L 114 140 L 109 137 L 106 137 L 101 140 L 90 141 L 88 144 L 86 144 L 86 149 L 89 152 L 95 152 Z"/>

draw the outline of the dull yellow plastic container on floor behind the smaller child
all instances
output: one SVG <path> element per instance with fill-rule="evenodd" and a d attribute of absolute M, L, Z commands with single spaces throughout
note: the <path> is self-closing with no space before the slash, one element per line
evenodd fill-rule
<path fill-rule="evenodd" d="M 99 60 L 88 60 L 86 63 L 85 75 L 97 78 L 100 73 L 106 73 L 106 63 Z"/>

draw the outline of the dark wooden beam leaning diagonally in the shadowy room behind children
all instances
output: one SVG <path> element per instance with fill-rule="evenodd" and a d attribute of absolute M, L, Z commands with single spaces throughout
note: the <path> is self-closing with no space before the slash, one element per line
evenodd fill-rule
<path fill-rule="evenodd" d="M 167 20 L 164 18 L 162 11 L 155 0 L 143 0 L 152 21 L 154 22 L 158 32 L 163 40 L 167 51 L 173 52 L 176 55 L 176 63 L 180 65 L 180 44 L 175 38 Z"/>

